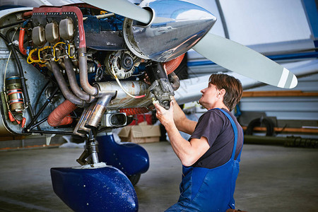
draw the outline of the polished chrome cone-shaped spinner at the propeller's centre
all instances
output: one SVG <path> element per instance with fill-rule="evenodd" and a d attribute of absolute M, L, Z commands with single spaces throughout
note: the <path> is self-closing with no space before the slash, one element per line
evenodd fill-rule
<path fill-rule="evenodd" d="M 216 22 L 209 11 L 186 1 L 146 0 L 139 6 L 153 11 L 151 23 L 141 26 L 131 20 L 124 23 L 124 34 L 127 46 L 134 45 L 131 51 L 138 49 L 137 56 L 144 59 L 165 62 L 184 54 Z"/>

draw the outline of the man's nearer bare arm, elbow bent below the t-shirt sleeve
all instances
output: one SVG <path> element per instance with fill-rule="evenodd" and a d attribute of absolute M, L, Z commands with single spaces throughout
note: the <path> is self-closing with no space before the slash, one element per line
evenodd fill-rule
<path fill-rule="evenodd" d="M 190 166 L 196 163 L 196 160 L 201 158 L 201 156 L 208 151 L 210 146 L 205 137 L 201 137 L 201 139 L 191 139 L 190 142 L 182 138 L 172 118 L 174 117 L 175 109 L 173 105 L 173 102 L 171 102 L 170 109 L 165 110 L 165 108 L 159 104 L 155 104 L 157 110 L 156 116 L 163 126 L 165 126 L 172 149 L 181 160 L 182 165 Z"/>

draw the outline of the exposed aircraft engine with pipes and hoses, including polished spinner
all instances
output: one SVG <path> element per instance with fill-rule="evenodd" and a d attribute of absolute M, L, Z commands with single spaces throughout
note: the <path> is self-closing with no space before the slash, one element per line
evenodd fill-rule
<path fill-rule="evenodd" d="M 172 23 L 164 8 L 150 4 L 143 7 L 158 16 L 148 25 L 89 4 L 20 8 L 1 18 L 3 25 L 13 25 L 0 29 L 7 45 L 15 43 L 23 55 L 18 74 L 6 71 L 1 134 L 53 131 L 86 137 L 129 124 L 134 114 L 153 110 L 153 100 L 169 108 L 179 87 L 173 71 L 215 18 L 192 7 L 201 15 L 185 19 L 190 7 L 180 13 L 187 3 L 176 2 Z M 189 24 L 196 27 L 189 30 Z"/>

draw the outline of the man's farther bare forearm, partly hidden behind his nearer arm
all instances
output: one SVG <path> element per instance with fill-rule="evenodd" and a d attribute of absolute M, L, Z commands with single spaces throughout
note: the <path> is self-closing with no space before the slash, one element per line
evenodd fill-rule
<path fill-rule="evenodd" d="M 177 126 L 177 129 L 179 131 L 183 131 L 186 134 L 192 134 L 194 132 L 194 129 L 196 128 L 197 122 L 187 119 L 174 97 L 172 97 L 172 102 L 174 111 L 173 120 L 175 121 L 175 126 Z"/>

